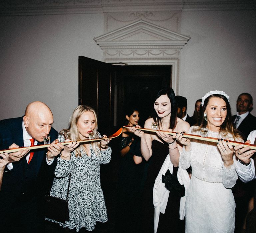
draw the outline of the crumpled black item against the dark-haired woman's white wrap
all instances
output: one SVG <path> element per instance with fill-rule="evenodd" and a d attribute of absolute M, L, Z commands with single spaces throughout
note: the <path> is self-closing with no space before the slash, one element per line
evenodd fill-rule
<path fill-rule="evenodd" d="M 166 171 L 165 175 L 162 175 L 162 182 L 166 189 L 178 197 L 185 196 L 185 187 L 183 184 L 180 184 L 178 178 L 171 174 L 169 169 Z"/>

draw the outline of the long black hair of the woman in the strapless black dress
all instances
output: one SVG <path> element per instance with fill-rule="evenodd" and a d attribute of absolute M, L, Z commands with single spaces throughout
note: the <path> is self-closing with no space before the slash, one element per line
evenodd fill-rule
<path fill-rule="evenodd" d="M 176 126 L 176 123 L 177 123 L 177 104 L 176 104 L 176 100 L 175 100 L 174 91 L 172 88 L 164 88 L 157 93 L 155 100 L 158 99 L 162 95 L 167 95 L 168 98 L 170 99 L 171 117 L 170 117 L 169 128 L 174 129 Z M 155 110 L 152 113 L 152 117 L 153 117 L 154 121 L 158 123 L 159 126 L 160 125 L 162 126 L 162 119 L 157 116 L 157 113 Z"/>

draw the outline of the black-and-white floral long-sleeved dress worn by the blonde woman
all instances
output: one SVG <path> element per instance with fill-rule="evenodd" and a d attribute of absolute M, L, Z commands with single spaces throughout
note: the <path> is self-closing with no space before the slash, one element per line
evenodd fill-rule
<path fill-rule="evenodd" d="M 100 136 L 100 134 L 98 133 Z M 60 142 L 65 141 L 63 134 L 59 134 Z M 101 151 L 101 155 L 96 155 L 90 144 L 91 156 L 81 150 L 81 157 L 75 157 L 75 152 L 71 153 L 70 160 L 57 158 L 55 169 L 56 178 L 50 192 L 51 196 L 66 199 L 67 188 L 70 176 L 70 187 L 68 194 L 69 221 L 61 226 L 69 229 L 85 227 L 92 231 L 96 221 L 106 222 L 107 211 L 104 195 L 100 184 L 100 164 L 107 164 L 111 158 L 111 148 Z M 56 222 L 52 219 L 47 219 Z"/>

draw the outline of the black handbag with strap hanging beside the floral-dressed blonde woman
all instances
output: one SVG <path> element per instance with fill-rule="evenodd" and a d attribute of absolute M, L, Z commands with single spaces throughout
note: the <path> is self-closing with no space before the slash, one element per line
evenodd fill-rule
<path fill-rule="evenodd" d="M 46 218 L 53 219 L 61 223 L 65 223 L 66 221 L 69 220 L 68 193 L 69 193 L 70 176 L 71 174 L 69 175 L 66 200 L 50 196 L 49 193 L 45 195 L 44 214 Z"/>

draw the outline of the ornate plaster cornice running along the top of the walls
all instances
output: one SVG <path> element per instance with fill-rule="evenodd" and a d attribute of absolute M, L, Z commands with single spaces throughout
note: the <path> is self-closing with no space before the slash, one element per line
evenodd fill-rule
<path fill-rule="evenodd" d="M 131 11 L 255 10 L 255 0 L 2 0 L 1 16 Z"/>

